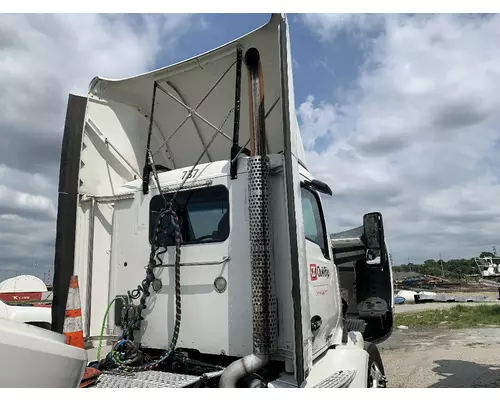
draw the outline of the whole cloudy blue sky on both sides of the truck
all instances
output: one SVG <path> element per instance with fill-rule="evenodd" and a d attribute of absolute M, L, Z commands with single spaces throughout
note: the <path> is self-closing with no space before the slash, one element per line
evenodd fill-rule
<path fill-rule="evenodd" d="M 53 265 L 69 92 L 234 39 L 268 15 L 0 15 L 0 279 Z M 385 217 L 396 263 L 499 244 L 500 16 L 289 15 L 329 230 Z"/>

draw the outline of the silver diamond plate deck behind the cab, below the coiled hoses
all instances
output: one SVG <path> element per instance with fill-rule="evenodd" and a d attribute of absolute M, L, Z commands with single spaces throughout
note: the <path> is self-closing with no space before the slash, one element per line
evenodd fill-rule
<path fill-rule="evenodd" d="M 197 382 L 199 376 L 172 374 L 160 371 L 132 373 L 104 372 L 97 388 L 182 388 Z"/>

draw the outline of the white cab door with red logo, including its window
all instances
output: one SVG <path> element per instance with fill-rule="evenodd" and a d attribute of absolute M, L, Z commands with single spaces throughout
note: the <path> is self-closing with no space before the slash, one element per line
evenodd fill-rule
<path fill-rule="evenodd" d="M 339 323 L 341 302 L 319 194 L 302 186 L 301 200 L 314 356 L 329 346 Z"/>

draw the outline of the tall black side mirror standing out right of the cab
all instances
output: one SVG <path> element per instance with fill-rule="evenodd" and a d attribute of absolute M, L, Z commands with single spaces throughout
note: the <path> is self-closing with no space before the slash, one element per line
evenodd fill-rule
<path fill-rule="evenodd" d="M 379 212 L 363 216 L 363 233 L 367 265 L 381 265 L 385 259 L 384 225 Z"/>

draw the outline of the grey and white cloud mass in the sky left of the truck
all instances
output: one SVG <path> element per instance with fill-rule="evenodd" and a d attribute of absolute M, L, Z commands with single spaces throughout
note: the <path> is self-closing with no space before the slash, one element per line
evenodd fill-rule
<path fill-rule="evenodd" d="M 38 262 L 42 276 L 52 268 L 69 92 L 86 93 L 96 75 L 122 78 L 153 68 L 160 56 L 175 56 L 194 18 L 0 15 L 0 261 L 6 268 Z"/>

